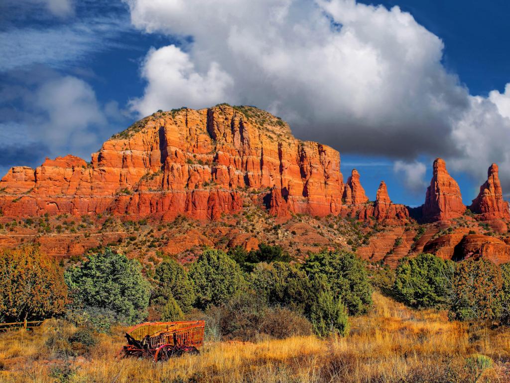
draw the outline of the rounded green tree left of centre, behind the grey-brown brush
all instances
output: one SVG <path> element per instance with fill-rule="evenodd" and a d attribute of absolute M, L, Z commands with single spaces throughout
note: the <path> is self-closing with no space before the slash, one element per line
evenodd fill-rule
<path fill-rule="evenodd" d="M 189 269 L 198 308 L 219 305 L 246 287 L 239 265 L 221 250 L 207 249 Z"/>

